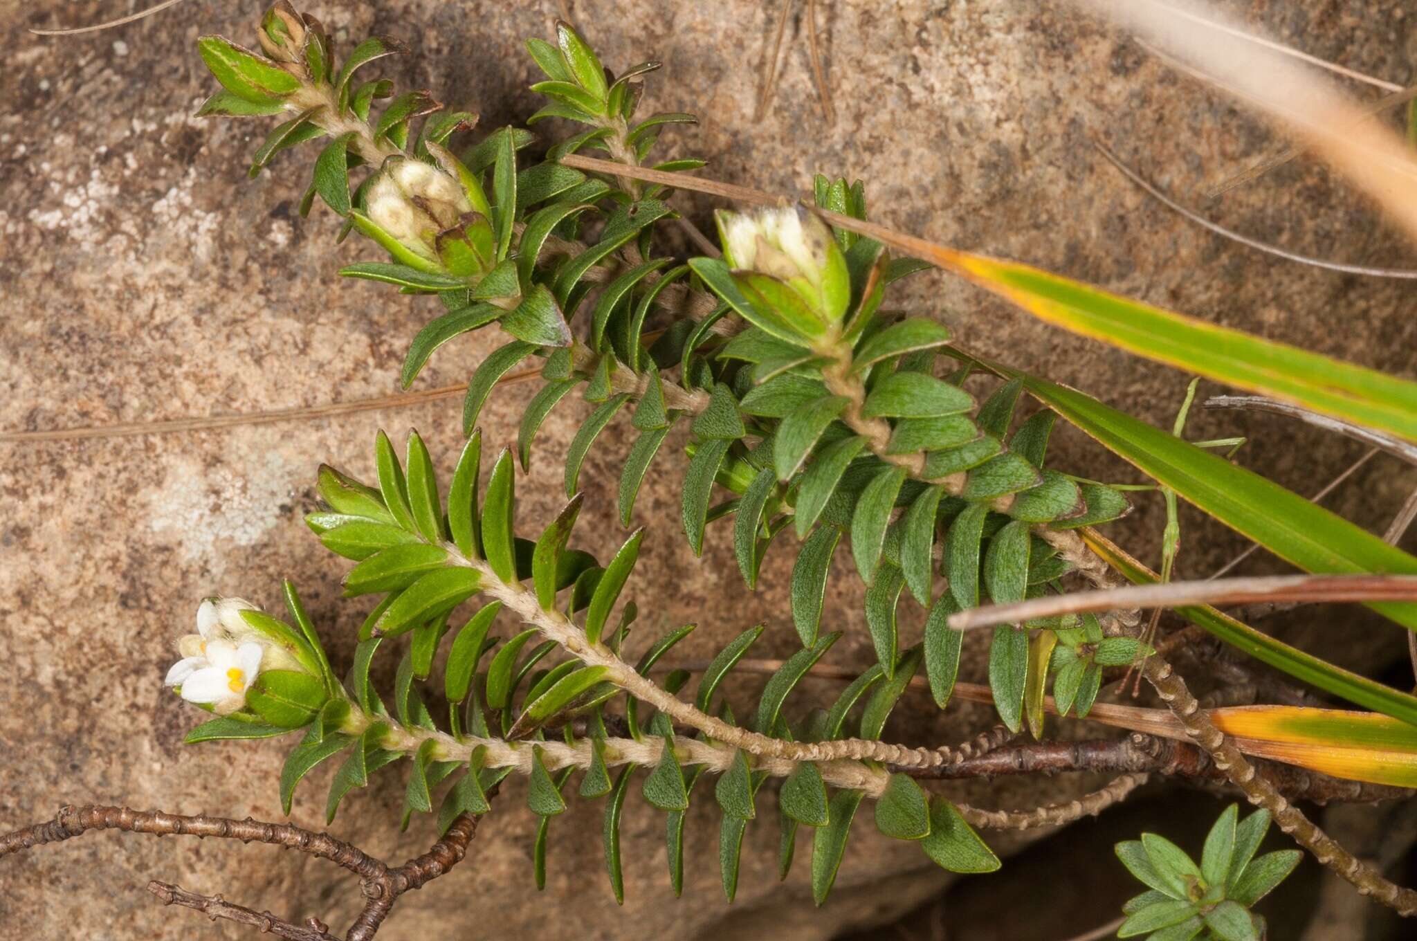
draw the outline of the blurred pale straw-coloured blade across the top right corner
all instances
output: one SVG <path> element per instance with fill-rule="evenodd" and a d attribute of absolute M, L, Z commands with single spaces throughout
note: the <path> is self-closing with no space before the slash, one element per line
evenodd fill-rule
<path fill-rule="evenodd" d="M 1238 38 L 1209 3 L 1078 0 L 1185 64 L 1213 77 L 1292 130 L 1417 238 L 1417 162 L 1360 103 L 1275 50 Z M 1217 24 L 1220 28 L 1217 28 Z"/>

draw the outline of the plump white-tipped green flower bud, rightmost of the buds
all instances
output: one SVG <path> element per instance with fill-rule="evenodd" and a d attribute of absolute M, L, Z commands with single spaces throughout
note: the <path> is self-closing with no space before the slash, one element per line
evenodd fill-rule
<path fill-rule="evenodd" d="M 809 339 L 833 332 L 850 303 L 846 258 L 830 230 L 798 205 L 720 210 L 724 261 L 748 299 Z"/>

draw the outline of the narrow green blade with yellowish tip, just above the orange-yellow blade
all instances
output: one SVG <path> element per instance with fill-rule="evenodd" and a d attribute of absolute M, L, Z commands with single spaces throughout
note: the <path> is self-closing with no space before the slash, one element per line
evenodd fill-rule
<path fill-rule="evenodd" d="M 1080 534 L 1102 561 L 1121 573 L 1128 581 L 1138 585 L 1161 581 L 1156 573 L 1097 530 L 1084 527 Z M 1410 728 L 1417 727 L 1417 696 L 1410 696 L 1401 690 L 1373 682 L 1366 676 L 1333 666 L 1282 641 L 1275 641 L 1270 635 L 1261 633 L 1210 605 L 1182 605 L 1175 611 L 1186 621 L 1204 628 L 1207 632 L 1261 663 L 1268 663 L 1277 670 L 1282 670 L 1298 680 L 1340 696 L 1356 706 L 1366 706 L 1367 709 L 1391 716 Z"/>

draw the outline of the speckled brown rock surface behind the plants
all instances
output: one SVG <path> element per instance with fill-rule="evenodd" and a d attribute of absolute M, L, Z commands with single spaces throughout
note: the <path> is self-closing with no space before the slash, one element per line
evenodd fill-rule
<path fill-rule="evenodd" d="M 96 35 L 40 40 L 52 4 L 0 7 L 7 65 L 0 71 L 0 429 L 106 425 L 319 405 L 393 393 L 404 349 L 429 316 L 380 285 L 334 269 L 373 257 L 354 240 L 336 247 L 333 218 L 296 213 L 309 153 L 285 156 L 245 180 L 262 122 L 190 115 L 213 82 L 198 34 L 248 41 L 256 7 L 197 0 Z M 64 23 L 126 13 L 130 4 L 62 4 Z M 798 4 L 805 6 L 805 4 Z M 724 0 L 608 0 L 574 16 L 612 67 L 655 57 L 648 105 L 693 111 L 701 123 L 666 135 L 680 154 L 704 156 L 733 181 L 796 193 L 815 170 L 862 177 L 874 215 L 947 244 L 1026 259 L 1197 316 L 1301 343 L 1403 374 L 1413 373 L 1411 289 L 1295 266 L 1237 249 L 1146 201 L 1093 150 L 1112 142 L 1144 173 L 1192 198 L 1207 181 L 1274 146 L 1271 135 L 1132 43 L 1058 4 L 1027 0 L 820 3 L 837 120 L 823 126 L 809 82 L 805 24 L 788 27 L 781 88 L 752 120 L 758 69 L 777 4 Z M 1244 4 L 1238 4 L 1247 10 Z M 427 86 L 478 111 L 483 128 L 529 115 L 531 65 L 521 40 L 548 31 L 557 4 L 483 0 L 315 3 L 343 48 L 377 31 L 410 41 L 391 65 L 404 88 Z M 1312 7 L 1308 13 L 1302 7 Z M 1319 55 L 1410 81 L 1406 4 L 1255 4 L 1265 26 Z M 672 140 L 670 140 L 672 137 Z M 682 198 L 706 221 L 710 203 Z M 1340 181 L 1299 160 L 1210 211 L 1226 224 L 1308 254 L 1401 264 L 1401 241 Z M 1186 377 L 1044 327 L 978 291 L 924 275 L 896 302 L 951 323 L 969 346 L 1044 370 L 1153 421 L 1166 421 Z M 495 342 L 479 334 L 434 359 L 419 387 L 466 378 Z M 524 388 L 524 387 L 521 387 Z M 510 442 L 524 394 L 496 394 L 485 432 Z M 547 424 L 520 488 L 519 520 L 534 527 L 558 500 L 560 462 L 587 408 Z M 371 472 L 376 428 L 395 438 L 418 427 L 446 473 L 461 444 L 448 400 L 259 427 L 45 444 L 0 444 L 0 828 L 48 816 L 64 802 L 113 802 L 234 816 L 279 816 L 283 748 L 272 743 L 184 747 L 197 714 L 160 686 L 173 639 L 190 629 L 197 599 L 239 594 L 275 607 L 292 577 L 329 642 L 349 662 L 366 605 L 339 601 L 343 565 L 300 523 L 315 503 L 320 461 Z M 1243 434 L 1243 459 L 1309 492 L 1359 449 L 1272 418 L 1200 414 L 1197 435 Z M 1061 429 L 1064 465 L 1129 478 L 1081 435 Z M 589 522 L 581 536 L 604 553 L 621 539 L 614 485 L 629 436 L 606 434 L 587 465 Z M 710 529 L 703 558 L 677 531 L 679 473 L 662 461 L 636 510 L 650 529 L 636 574 L 642 636 L 697 621 L 683 645 L 701 658 L 758 619 L 764 650 L 796 645 L 786 614 L 792 553 L 769 554 L 764 588 L 744 595 L 730 534 Z M 1379 458 L 1335 497 L 1363 524 L 1382 526 L 1413 485 Z M 1119 534 L 1153 551 L 1158 505 Z M 1182 574 L 1202 574 L 1238 548 L 1227 531 L 1187 513 Z M 843 564 L 845 563 L 845 564 Z M 828 618 L 846 631 L 833 663 L 871 660 L 860 592 L 839 558 Z M 667 590 L 666 590 L 667 588 Z M 1366 666 L 1400 653 L 1396 629 L 1343 611 L 1348 636 L 1379 641 L 1343 656 Z M 1319 624 L 1319 619 L 1315 619 Z M 1332 629 L 1332 622 L 1329 622 Z M 907 629 L 918 629 L 913 622 Z M 1309 636 L 1322 642 L 1331 633 Z M 391 665 L 385 665 L 391 672 Z M 965 665 L 982 677 L 978 650 Z M 385 675 L 387 679 L 387 675 Z M 808 683 L 822 701 L 830 684 Z M 743 692 L 751 692 L 744 683 Z M 979 707 L 937 714 L 910 703 L 888 734 L 952 741 L 988 721 Z M 317 826 L 322 784 L 312 775 L 293 818 Z M 1077 794 L 1053 779 L 975 785 L 969 799 L 1024 806 Z M 431 826 L 398 835 L 401 775 L 351 796 L 333 830 L 391 857 L 419 852 Z M 506 788 L 462 869 L 410 897 L 391 938 L 615 938 L 636 935 L 826 938 L 880 924 L 935 893 L 945 874 L 862 821 L 832 906 L 818 913 L 805 860 L 774 876 L 777 832 L 751 828 L 738 903 L 723 904 L 716 822 L 700 801 L 689 823 L 684 898 L 665 877 L 663 822 L 632 801 L 625 815 L 626 903 L 604 887 L 598 808 L 575 806 L 553 826 L 547 890 L 531 884 L 531 816 L 520 784 Z M 864 815 L 863 815 L 864 816 Z M 1007 850 L 1007 840 L 998 842 Z M 799 857 L 806 855 L 799 846 Z M 1006 876 L 1003 876 L 1006 877 Z M 179 881 L 341 925 L 353 886 L 336 870 L 268 847 L 220 842 L 86 836 L 0 862 L 0 938 L 247 937 L 164 910 L 142 886 Z"/>

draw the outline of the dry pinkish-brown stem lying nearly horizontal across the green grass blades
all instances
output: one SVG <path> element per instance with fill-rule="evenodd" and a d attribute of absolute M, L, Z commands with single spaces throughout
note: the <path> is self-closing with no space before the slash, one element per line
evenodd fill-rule
<path fill-rule="evenodd" d="M 1417 575 L 1251 575 L 1074 591 L 971 608 L 949 615 L 949 626 L 971 631 L 1054 615 L 1255 601 L 1417 601 Z"/>

